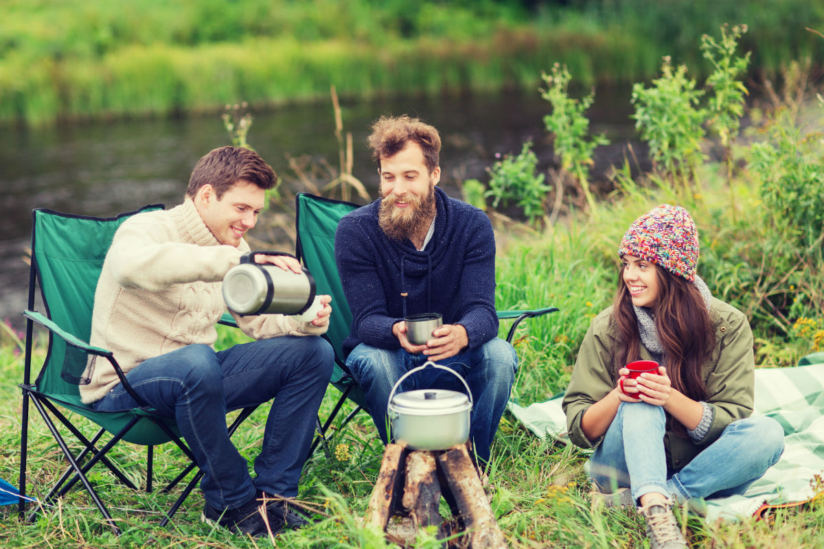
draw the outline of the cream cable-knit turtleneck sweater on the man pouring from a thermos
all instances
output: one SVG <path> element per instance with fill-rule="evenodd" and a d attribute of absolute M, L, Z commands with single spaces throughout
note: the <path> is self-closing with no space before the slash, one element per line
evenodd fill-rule
<path fill-rule="evenodd" d="M 237 248 L 220 244 L 190 198 L 129 218 L 115 233 L 97 282 L 91 345 L 112 351 L 124 372 L 186 345 L 213 345 L 214 325 L 226 310 L 223 276 L 247 251 L 245 241 Z M 233 316 L 255 339 L 326 331 L 283 314 Z M 84 378 L 90 383 L 80 385 L 83 402 L 103 398 L 119 383 L 103 358 L 90 358 Z"/>

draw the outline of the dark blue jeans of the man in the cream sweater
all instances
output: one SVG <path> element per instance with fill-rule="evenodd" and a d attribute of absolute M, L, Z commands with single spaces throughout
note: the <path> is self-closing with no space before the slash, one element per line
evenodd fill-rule
<path fill-rule="evenodd" d="M 284 336 L 219 352 L 189 345 L 143 361 L 126 379 L 161 416 L 175 418 L 204 470 L 200 488 L 208 504 L 236 509 L 255 488 L 297 495 L 333 364 L 332 348 L 321 337 Z M 246 458 L 229 440 L 226 414 L 273 398 L 253 482 Z M 103 412 L 137 406 L 122 384 L 94 404 Z"/>

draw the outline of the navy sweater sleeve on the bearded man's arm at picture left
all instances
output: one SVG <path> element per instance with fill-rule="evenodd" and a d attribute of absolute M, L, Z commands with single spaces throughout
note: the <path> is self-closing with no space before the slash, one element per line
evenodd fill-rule
<path fill-rule="evenodd" d="M 335 231 L 335 262 L 352 312 L 353 332 L 372 347 L 399 349 L 400 342 L 392 333 L 392 326 L 403 319 L 393 318 L 387 312 L 378 255 L 360 222 L 345 216 Z"/>

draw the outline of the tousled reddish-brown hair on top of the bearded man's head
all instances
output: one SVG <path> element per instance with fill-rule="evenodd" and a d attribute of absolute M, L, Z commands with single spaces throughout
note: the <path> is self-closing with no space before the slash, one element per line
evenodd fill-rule
<path fill-rule="evenodd" d="M 431 174 L 440 162 L 441 136 L 437 129 L 420 119 L 410 118 L 406 114 L 382 116 L 372 124 L 372 135 L 367 139 L 378 168 L 381 167 L 382 159 L 397 154 L 409 141 L 418 143 L 424 151 L 426 168 Z"/>

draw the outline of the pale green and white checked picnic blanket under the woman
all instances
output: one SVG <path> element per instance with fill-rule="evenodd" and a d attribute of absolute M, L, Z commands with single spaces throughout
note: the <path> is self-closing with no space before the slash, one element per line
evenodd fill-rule
<path fill-rule="evenodd" d="M 706 520 L 760 518 L 770 509 L 824 498 L 824 353 L 819 355 L 818 364 L 756 370 L 753 415 L 773 417 L 784 427 L 784 454 L 743 495 L 707 500 Z M 567 444 L 561 398 L 508 407 L 537 436 Z"/>

